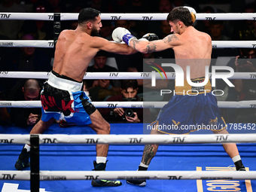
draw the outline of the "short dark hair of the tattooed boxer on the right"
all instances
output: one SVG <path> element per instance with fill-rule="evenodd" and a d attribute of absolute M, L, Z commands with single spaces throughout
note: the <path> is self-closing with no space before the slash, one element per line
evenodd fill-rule
<path fill-rule="evenodd" d="M 192 17 L 190 11 L 187 8 L 173 8 L 167 16 L 167 22 L 175 22 L 175 20 L 181 21 L 182 23 L 184 23 L 185 26 L 193 26 Z"/>

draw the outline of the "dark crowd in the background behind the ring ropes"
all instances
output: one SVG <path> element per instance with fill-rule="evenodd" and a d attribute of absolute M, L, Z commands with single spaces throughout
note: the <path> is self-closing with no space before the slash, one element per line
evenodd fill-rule
<path fill-rule="evenodd" d="M 102 13 L 169 13 L 177 6 L 193 7 L 197 13 L 255 13 L 256 2 L 254 0 L 2 0 L 0 12 L 19 13 L 79 13 L 82 8 L 95 8 Z M 62 21 L 61 28 L 75 29 L 78 26 L 76 20 Z M 116 27 L 125 27 L 137 38 L 148 32 L 154 32 L 160 39 L 170 34 L 170 28 L 166 20 L 102 20 L 102 29 L 99 35 L 109 41 L 111 33 Z M 256 21 L 254 20 L 197 20 L 194 27 L 208 33 L 212 41 L 255 41 Z M 41 20 L 0 20 L 0 40 L 53 40 L 53 21 Z M 227 62 L 221 65 L 230 66 L 235 72 L 256 72 L 255 49 L 239 48 L 213 48 L 212 65 L 220 65 L 219 59 L 228 57 Z M 239 59 L 243 58 L 244 62 Z M 100 51 L 94 57 L 87 72 L 143 72 L 142 59 L 173 59 L 172 49 L 157 53 L 136 53 L 130 56 L 122 56 Z M 53 66 L 54 49 L 38 47 L 0 47 L 0 72 L 50 72 Z M 241 59 L 242 60 L 242 59 Z M 224 96 L 217 97 L 222 101 L 241 101 L 256 99 L 256 83 L 254 80 L 232 80 L 236 87 L 227 87 L 224 81 L 218 81 L 216 89 L 225 90 Z M 38 80 L 38 89 L 41 89 L 44 80 Z M 131 82 L 126 82 L 131 84 Z M 137 101 L 154 100 L 155 90 L 146 82 L 137 80 L 137 84 L 131 84 L 136 92 L 133 99 Z M 144 87 L 143 87 L 144 85 Z M 20 89 L 17 87 L 20 86 Z M 26 99 L 24 90 L 25 81 L 17 78 L 0 79 L 0 99 L 14 100 Z M 90 80 L 84 81 L 84 91 L 87 91 L 93 101 L 121 101 L 130 98 L 127 93 L 133 92 L 131 87 L 123 85 L 122 81 L 114 80 Z M 158 88 L 174 89 L 173 81 L 161 81 Z M 15 98 L 15 91 L 20 92 L 20 97 Z M 134 93 L 134 92 L 133 92 Z M 36 97 L 34 99 L 40 99 Z M 163 96 L 164 101 L 169 96 Z M 18 109 L 19 110 L 19 109 Z M 124 120 L 127 122 L 142 122 L 142 111 L 135 112 L 135 117 L 123 117 L 121 109 L 99 110 L 106 120 Z M 120 112 L 121 111 L 121 112 Z M 227 123 L 255 123 L 255 108 L 221 108 Z M 147 111 L 157 114 L 157 111 Z M 19 113 L 19 112 L 18 112 Z M 40 117 L 39 112 L 28 109 L 22 126 L 30 126 Z M 120 118 L 114 118 L 114 113 Z M 36 114 L 32 116 L 32 114 Z M 110 116 L 108 116 L 108 114 Z M 14 116 L 14 117 L 12 117 Z M 0 108 L 0 123 L 17 123 L 15 118 L 17 110 Z M 152 115 L 147 115 L 147 117 Z M 154 117 L 153 117 L 154 118 Z M 32 120 L 33 119 L 33 120 Z M 20 120 L 21 121 L 21 120 Z M 25 122 L 25 123 L 24 123 Z M 32 123 L 33 122 L 33 123 Z"/>

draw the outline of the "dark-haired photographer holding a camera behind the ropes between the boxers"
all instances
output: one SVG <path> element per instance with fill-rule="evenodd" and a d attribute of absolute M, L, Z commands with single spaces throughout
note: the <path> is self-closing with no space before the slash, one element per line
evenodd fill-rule
<path fill-rule="evenodd" d="M 137 96 L 138 92 L 138 82 L 137 80 L 122 80 L 120 87 L 121 94 L 118 96 L 111 96 L 106 101 L 111 102 L 123 102 L 123 101 L 139 101 Z M 132 111 L 131 111 L 132 110 Z M 144 117 L 147 117 L 148 114 L 145 114 Z M 108 121 L 128 121 L 131 123 L 142 123 L 143 122 L 143 108 L 99 108 L 99 112 L 102 114 L 102 117 Z"/>

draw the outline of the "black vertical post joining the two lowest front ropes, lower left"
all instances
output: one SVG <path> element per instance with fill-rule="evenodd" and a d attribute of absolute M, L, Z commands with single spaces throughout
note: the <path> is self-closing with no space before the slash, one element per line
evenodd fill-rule
<path fill-rule="evenodd" d="M 39 136 L 30 136 L 30 190 L 31 192 L 39 192 Z"/>

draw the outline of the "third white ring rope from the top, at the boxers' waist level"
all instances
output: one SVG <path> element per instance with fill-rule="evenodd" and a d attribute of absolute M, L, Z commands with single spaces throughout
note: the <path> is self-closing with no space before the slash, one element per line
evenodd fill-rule
<path fill-rule="evenodd" d="M 227 73 L 216 72 L 216 75 L 226 75 Z M 50 72 L 0 72 L 0 78 L 37 78 L 48 79 Z M 155 73 L 156 79 L 164 77 Z M 175 79 L 174 72 L 166 72 L 168 80 Z M 84 79 L 151 79 L 151 72 L 86 72 Z M 212 73 L 209 73 L 212 78 Z M 235 72 L 229 79 L 256 79 L 256 72 Z"/>

